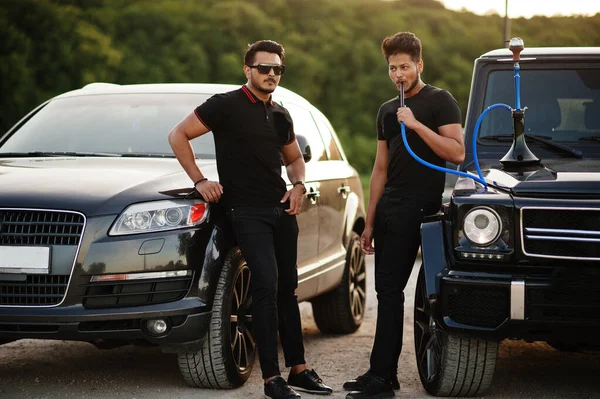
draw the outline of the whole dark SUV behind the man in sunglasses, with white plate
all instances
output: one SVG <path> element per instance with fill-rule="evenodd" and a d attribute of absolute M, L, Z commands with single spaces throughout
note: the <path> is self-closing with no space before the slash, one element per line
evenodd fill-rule
<path fill-rule="evenodd" d="M 170 129 L 236 86 L 94 83 L 0 137 L 0 344 L 158 345 L 192 386 L 243 384 L 255 362 L 250 273 L 219 206 L 192 191 Z M 363 193 L 327 118 L 279 87 L 306 160 L 299 300 L 323 332 L 365 311 Z M 194 140 L 218 180 L 212 134 Z M 283 174 L 286 176 L 286 174 Z M 289 182 L 288 182 L 289 184 Z"/>

